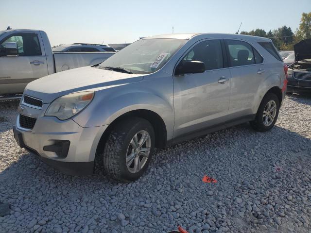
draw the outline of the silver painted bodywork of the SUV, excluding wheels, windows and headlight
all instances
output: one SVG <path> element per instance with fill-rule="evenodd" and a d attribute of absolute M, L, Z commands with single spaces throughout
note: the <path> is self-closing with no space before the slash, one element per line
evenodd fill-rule
<path fill-rule="evenodd" d="M 258 50 L 262 61 L 240 67 L 230 66 L 225 45 L 225 41 L 230 39 L 245 42 L 250 48 Z M 52 161 L 52 166 L 66 173 L 81 172 L 80 168 L 77 170 L 74 166 L 72 169 L 64 169 L 66 163 L 78 164 L 76 167 L 86 163 L 83 173 L 90 174 L 101 137 L 109 125 L 127 113 L 137 110 L 154 113 L 163 121 L 165 142 L 170 145 L 253 120 L 265 94 L 271 88 L 281 90 L 284 86 L 284 63 L 277 61 L 259 46 L 258 41 L 271 42 L 261 37 L 217 33 L 159 35 L 143 38 L 118 53 L 120 56 L 126 54 L 126 51 L 135 48 L 136 43 L 143 45 L 161 40 L 173 40 L 172 43 L 176 40 L 180 46 L 176 46 L 172 54 L 161 53 L 159 57 L 162 60 L 159 63 L 163 64 L 154 71 L 149 67 L 158 64 L 146 65 L 144 61 L 129 64 L 128 67 L 145 66 L 150 72 L 134 69 L 133 73 L 128 73 L 101 68 L 101 65 L 114 61 L 116 54 L 116 57 L 107 59 L 99 66 L 68 70 L 29 83 L 19 104 L 14 130 L 17 140 L 22 138 L 20 145 L 36 153 L 45 162 L 50 161 L 51 164 Z M 192 56 L 191 49 L 202 42 L 209 45 L 210 41 L 216 41 L 220 46 L 220 50 L 214 51 L 222 57 L 222 62 L 217 60 L 218 68 L 177 75 L 178 64 L 187 54 L 188 58 Z M 148 59 L 154 56 L 147 52 L 144 55 Z M 245 59 L 248 60 L 247 57 Z M 82 92 L 92 92 L 94 96 L 78 114 L 66 120 L 45 116 L 49 106 L 60 97 Z M 25 104 L 28 97 L 42 101 L 42 107 Z M 283 98 L 284 94 L 281 100 Z M 19 124 L 20 116 L 35 119 L 33 128 L 22 128 Z M 49 151 L 55 148 L 58 152 Z"/>

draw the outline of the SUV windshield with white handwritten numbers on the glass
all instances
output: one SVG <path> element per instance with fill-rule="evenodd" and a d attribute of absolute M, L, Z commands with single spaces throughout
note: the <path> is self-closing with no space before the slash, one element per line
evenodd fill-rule
<path fill-rule="evenodd" d="M 120 67 L 133 74 L 149 74 L 160 69 L 179 50 L 185 39 L 143 39 L 120 50 L 100 64 L 100 68 Z"/>

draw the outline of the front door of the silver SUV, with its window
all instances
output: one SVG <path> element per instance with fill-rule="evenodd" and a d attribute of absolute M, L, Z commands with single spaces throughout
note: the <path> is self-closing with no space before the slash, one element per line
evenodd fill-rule
<path fill-rule="evenodd" d="M 230 71 L 220 39 L 195 44 L 178 66 L 204 62 L 204 73 L 174 75 L 174 139 L 221 124 L 228 114 Z"/>

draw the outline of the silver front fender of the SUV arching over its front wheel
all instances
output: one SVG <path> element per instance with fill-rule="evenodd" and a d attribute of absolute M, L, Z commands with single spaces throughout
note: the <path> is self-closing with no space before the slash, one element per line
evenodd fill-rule
<path fill-rule="evenodd" d="M 109 125 L 119 116 L 133 110 L 150 110 L 163 119 L 167 127 L 167 138 L 172 138 L 173 97 L 166 98 L 165 95 L 155 93 L 147 87 L 133 88 L 139 85 L 138 83 L 97 91 L 89 106 L 72 119 L 82 127 L 97 127 Z"/>

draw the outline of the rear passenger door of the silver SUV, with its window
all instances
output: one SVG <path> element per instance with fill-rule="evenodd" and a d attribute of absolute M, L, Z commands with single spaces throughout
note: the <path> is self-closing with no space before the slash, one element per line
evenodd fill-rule
<path fill-rule="evenodd" d="M 225 40 L 231 73 L 231 95 L 228 114 L 230 118 L 252 115 L 259 85 L 268 72 L 263 58 L 249 43 L 241 40 Z"/>

